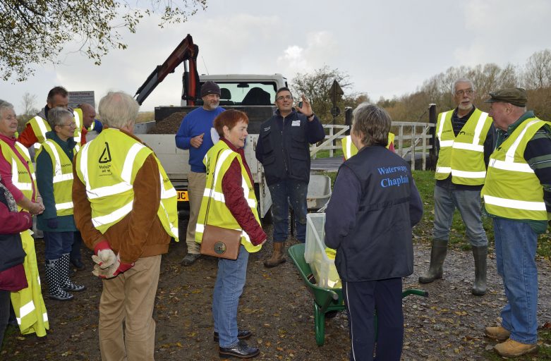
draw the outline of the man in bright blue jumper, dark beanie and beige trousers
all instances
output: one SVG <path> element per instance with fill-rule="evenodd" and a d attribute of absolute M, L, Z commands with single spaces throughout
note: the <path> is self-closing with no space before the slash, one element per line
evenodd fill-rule
<path fill-rule="evenodd" d="M 212 147 L 210 128 L 214 118 L 225 109 L 220 104 L 220 87 L 216 82 L 207 81 L 201 87 L 202 107 L 193 109 L 183 118 L 178 133 L 176 133 L 176 147 L 189 149 L 188 199 L 189 221 L 186 232 L 188 254 L 183 257 L 182 264 L 190 266 L 200 256 L 199 243 L 195 243 L 195 225 L 201 207 L 202 194 L 205 192 L 207 181 L 205 164 L 202 159 Z"/>

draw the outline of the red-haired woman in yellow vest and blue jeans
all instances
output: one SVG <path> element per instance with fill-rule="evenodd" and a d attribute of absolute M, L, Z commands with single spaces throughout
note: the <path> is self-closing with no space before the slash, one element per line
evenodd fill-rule
<path fill-rule="evenodd" d="M 258 252 L 266 241 L 258 217 L 253 177 L 243 153 L 247 127 L 248 117 L 242 111 L 227 110 L 214 119 L 220 140 L 203 160 L 207 182 L 195 229 L 198 243 L 205 226 L 241 231 L 237 259 L 219 258 L 212 297 L 214 341 L 219 343 L 221 357 L 249 358 L 260 353 L 243 341 L 251 332 L 237 326 L 237 306 L 245 286 L 248 255 Z"/>

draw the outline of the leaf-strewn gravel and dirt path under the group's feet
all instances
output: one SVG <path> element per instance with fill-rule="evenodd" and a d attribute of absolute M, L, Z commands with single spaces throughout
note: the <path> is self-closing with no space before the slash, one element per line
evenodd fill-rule
<path fill-rule="evenodd" d="M 36 242 L 38 259 L 44 259 L 42 240 Z M 349 336 L 346 314 L 327 320 L 325 345 L 318 347 L 313 330 L 312 298 L 291 262 L 267 270 L 262 259 L 265 247 L 250 255 L 248 280 L 239 308 L 239 324 L 253 330 L 250 343 L 262 353 L 256 360 L 348 360 Z M 171 245 L 163 258 L 157 293 L 155 360 L 219 360 L 212 341 L 210 303 L 216 277 L 215 259 L 199 259 L 192 267 L 181 267 L 184 242 Z M 404 280 L 404 288 L 423 288 L 429 298 L 404 299 L 406 334 L 403 360 L 486 360 L 494 344 L 483 338 L 483 327 L 495 322 L 505 298 L 495 271 L 488 262 L 489 292 L 471 295 L 473 280 L 470 252 L 450 250 L 444 279 L 419 286 L 417 279 L 428 265 L 430 249 L 415 246 L 415 273 Z M 75 279 L 87 290 L 70 302 L 46 300 L 50 331 L 46 338 L 20 336 L 11 328 L 6 334 L 1 360 L 99 360 L 97 304 L 101 283 L 91 274 L 92 261 L 85 251 L 87 270 Z M 540 302 L 538 321 L 551 322 L 550 263 L 538 259 Z M 43 267 L 40 265 L 42 280 Z M 44 281 L 43 281 L 44 282 Z M 44 293 L 45 293 L 44 285 Z M 547 346 L 549 347 L 549 346 Z M 533 358 L 527 360 L 544 360 Z"/>

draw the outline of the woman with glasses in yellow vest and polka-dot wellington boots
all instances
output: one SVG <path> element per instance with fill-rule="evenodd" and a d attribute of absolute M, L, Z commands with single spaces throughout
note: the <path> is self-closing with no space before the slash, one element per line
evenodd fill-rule
<path fill-rule="evenodd" d="M 56 107 L 48 111 L 52 131 L 46 133 L 36 155 L 37 185 L 44 202 L 44 213 L 37 217 L 37 226 L 44 231 L 44 257 L 48 297 L 71 300 L 69 292 L 84 290 L 69 279 L 69 254 L 76 226 L 73 219 L 73 157 L 77 147 L 73 134 L 73 113 Z"/>

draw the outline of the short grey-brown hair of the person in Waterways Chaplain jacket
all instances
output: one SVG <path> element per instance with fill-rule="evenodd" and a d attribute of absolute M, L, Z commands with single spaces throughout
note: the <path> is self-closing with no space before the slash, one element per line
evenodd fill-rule
<path fill-rule="evenodd" d="M 352 116 L 352 132 L 356 135 L 363 134 L 363 145 L 387 146 L 392 119 L 385 109 L 365 102 L 353 110 Z"/>

